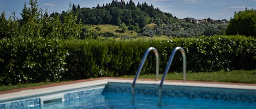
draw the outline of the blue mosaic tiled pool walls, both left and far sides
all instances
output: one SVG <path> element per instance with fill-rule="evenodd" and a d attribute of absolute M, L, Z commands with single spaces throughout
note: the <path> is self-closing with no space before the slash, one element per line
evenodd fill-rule
<path fill-rule="evenodd" d="M 202 91 L 203 90 L 203 91 Z M 64 94 L 65 100 L 79 100 L 82 97 L 93 97 L 102 93 L 131 93 L 131 84 L 107 84 L 105 87 L 86 89 L 84 91 L 67 92 Z M 158 96 L 158 85 L 137 85 L 135 86 L 136 94 Z M 242 89 L 225 89 L 209 87 L 189 87 L 189 86 L 163 86 L 163 97 L 186 97 L 201 98 L 227 101 L 256 102 L 256 92 Z M 93 98 L 92 98 L 93 99 Z M 0 104 L 0 109 L 10 108 L 29 108 L 40 106 L 40 97 L 29 98 L 26 100 L 8 102 Z"/>

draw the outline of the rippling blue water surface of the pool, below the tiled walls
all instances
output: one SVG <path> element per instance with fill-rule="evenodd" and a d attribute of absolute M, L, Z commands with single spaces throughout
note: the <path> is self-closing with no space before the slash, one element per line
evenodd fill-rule
<path fill-rule="evenodd" d="M 103 92 L 102 94 L 78 99 L 66 100 L 63 102 L 53 102 L 44 106 L 32 107 L 37 109 L 53 109 L 53 108 L 256 108 L 255 102 L 240 102 L 240 101 L 223 101 L 211 99 L 189 99 L 189 98 L 171 98 L 163 97 L 162 105 L 158 105 L 158 96 L 136 94 L 134 102 L 131 100 L 131 95 L 127 93 Z"/>

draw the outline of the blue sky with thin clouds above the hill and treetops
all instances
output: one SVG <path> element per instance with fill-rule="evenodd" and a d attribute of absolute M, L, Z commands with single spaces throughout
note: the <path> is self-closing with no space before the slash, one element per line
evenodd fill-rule
<path fill-rule="evenodd" d="M 121 0 L 118 0 L 121 1 Z M 125 0 L 128 2 L 129 0 Z M 0 0 L 0 12 L 5 11 L 6 16 L 11 16 L 15 11 L 20 17 L 24 3 L 29 0 Z M 62 12 L 69 8 L 70 3 L 80 4 L 81 8 L 96 7 L 97 4 L 111 3 L 112 0 L 38 0 L 38 5 L 42 9 L 47 9 L 48 13 L 53 11 Z M 133 0 L 135 4 L 146 2 L 164 12 L 169 12 L 178 18 L 192 17 L 197 19 L 212 18 L 214 20 L 234 17 L 234 12 L 239 10 L 256 9 L 256 0 Z"/>

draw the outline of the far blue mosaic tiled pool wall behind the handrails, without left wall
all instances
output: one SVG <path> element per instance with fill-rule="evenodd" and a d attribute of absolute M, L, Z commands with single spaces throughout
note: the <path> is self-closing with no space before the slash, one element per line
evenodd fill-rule
<path fill-rule="evenodd" d="M 107 85 L 104 92 L 114 93 L 131 93 L 131 85 Z M 144 87 L 143 85 L 135 86 L 136 94 L 154 95 L 158 96 L 158 87 Z M 163 97 L 185 97 L 185 98 L 200 98 L 213 99 L 225 101 L 242 101 L 242 102 L 256 102 L 256 91 L 245 89 L 227 89 L 227 88 L 210 88 L 210 87 L 189 87 L 189 86 L 163 86 Z"/>

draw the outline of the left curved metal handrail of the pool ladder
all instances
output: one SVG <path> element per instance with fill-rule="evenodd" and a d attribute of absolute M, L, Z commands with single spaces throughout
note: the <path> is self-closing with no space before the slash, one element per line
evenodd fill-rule
<path fill-rule="evenodd" d="M 139 69 L 137 70 L 136 72 L 136 75 L 135 75 L 135 78 L 133 80 L 133 84 L 132 84 L 132 98 L 134 98 L 134 87 L 135 87 L 135 83 L 136 83 L 136 80 L 138 79 L 139 75 L 140 75 L 140 72 L 141 72 L 141 69 L 146 61 L 146 58 L 147 58 L 147 55 L 148 53 L 153 50 L 154 52 L 154 55 L 156 55 L 156 80 L 158 81 L 158 78 L 159 78 L 159 54 L 157 52 L 157 49 L 154 48 L 154 47 L 150 47 L 147 49 L 147 51 L 145 52 L 143 58 L 142 58 L 142 61 L 140 62 L 140 66 L 139 66 Z"/>

